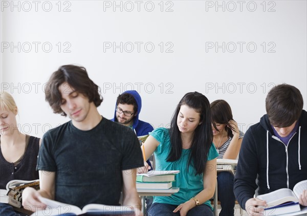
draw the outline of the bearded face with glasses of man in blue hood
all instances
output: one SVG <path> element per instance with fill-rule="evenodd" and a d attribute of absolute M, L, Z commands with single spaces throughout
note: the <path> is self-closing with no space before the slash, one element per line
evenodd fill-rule
<path fill-rule="evenodd" d="M 130 125 L 133 123 L 133 118 L 137 113 L 134 113 L 134 105 L 118 104 L 116 111 L 117 122 L 123 125 Z"/>

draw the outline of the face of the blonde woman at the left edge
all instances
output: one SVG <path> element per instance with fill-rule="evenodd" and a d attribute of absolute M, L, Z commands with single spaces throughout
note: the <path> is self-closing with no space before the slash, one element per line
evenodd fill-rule
<path fill-rule="evenodd" d="M 17 108 L 12 112 L 8 109 L 0 109 L 0 135 L 13 134 L 18 131 L 16 123 Z"/>

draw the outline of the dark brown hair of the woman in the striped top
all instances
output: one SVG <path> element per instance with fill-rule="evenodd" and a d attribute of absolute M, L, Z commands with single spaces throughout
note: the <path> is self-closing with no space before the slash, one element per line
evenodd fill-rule
<path fill-rule="evenodd" d="M 232 112 L 229 104 L 224 100 L 216 100 L 210 104 L 211 107 L 211 121 L 215 130 L 217 129 L 216 124 L 226 124 L 226 131 L 228 137 L 233 137 L 232 130 L 234 128 L 229 125 L 229 121 L 233 120 Z"/>

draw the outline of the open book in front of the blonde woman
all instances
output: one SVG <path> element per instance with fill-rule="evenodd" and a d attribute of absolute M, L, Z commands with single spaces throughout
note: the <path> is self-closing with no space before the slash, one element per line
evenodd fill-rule
<path fill-rule="evenodd" d="M 21 195 L 26 187 L 39 189 L 39 180 L 11 180 L 6 185 L 6 190 L 1 189 L 1 202 L 8 203 L 14 207 L 21 208 Z"/>

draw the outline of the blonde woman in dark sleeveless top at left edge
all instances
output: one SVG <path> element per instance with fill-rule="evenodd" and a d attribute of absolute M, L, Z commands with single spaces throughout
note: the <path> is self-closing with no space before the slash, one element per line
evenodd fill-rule
<path fill-rule="evenodd" d="M 6 184 L 14 179 L 38 179 L 36 161 L 40 139 L 21 133 L 18 130 L 16 115 L 17 106 L 13 97 L 7 92 L 0 93 L 0 188 L 6 189 Z M 13 207 L 1 203 L 1 216 L 19 216 Z"/>

